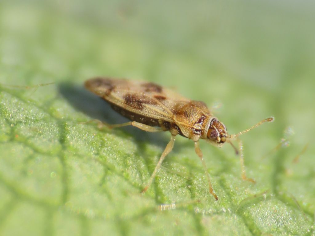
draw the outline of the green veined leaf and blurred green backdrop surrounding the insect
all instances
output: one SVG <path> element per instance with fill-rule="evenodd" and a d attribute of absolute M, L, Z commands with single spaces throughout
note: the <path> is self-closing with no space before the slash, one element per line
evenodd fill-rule
<path fill-rule="evenodd" d="M 314 5 L 1 1 L 0 235 L 315 235 Z M 94 76 L 223 104 L 230 133 L 275 116 L 242 137 L 257 183 L 231 147 L 201 142 L 215 201 L 178 137 L 140 194 L 169 133 L 82 123 L 122 120 L 84 90 Z"/>

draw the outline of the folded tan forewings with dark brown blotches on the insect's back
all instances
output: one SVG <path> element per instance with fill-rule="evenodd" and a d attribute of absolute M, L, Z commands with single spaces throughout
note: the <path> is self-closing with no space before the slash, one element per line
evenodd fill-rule
<path fill-rule="evenodd" d="M 172 90 L 151 82 L 94 78 L 86 81 L 85 87 L 123 109 L 169 122 L 173 122 L 175 104 L 189 102 Z"/>

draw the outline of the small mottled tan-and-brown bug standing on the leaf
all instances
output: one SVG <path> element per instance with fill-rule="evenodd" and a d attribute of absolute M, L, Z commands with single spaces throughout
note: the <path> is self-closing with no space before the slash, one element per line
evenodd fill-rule
<path fill-rule="evenodd" d="M 209 192 L 218 200 L 217 195 L 213 191 L 210 175 L 199 148 L 199 140 L 205 139 L 218 147 L 222 147 L 227 142 L 238 153 L 238 150 L 231 142 L 232 139 L 238 139 L 239 135 L 274 119 L 270 117 L 242 132 L 228 134 L 226 126 L 212 115 L 205 103 L 187 99 L 170 89 L 163 88 L 152 82 L 97 77 L 86 81 L 85 87 L 108 102 L 113 110 L 130 120 L 123 124 L 105 124 L 106 126 L 116 128 L 132 125 L 147 132 L 169 131 L 171 133 L 171 139 L 142 192 L 146 192 L 150 187 L 164 158 L 173 149 L 175 136 L 181 135 L 195 143 L 195 152 L 202 161 L 207 176 Z M 242 178 L 243 180 L 254 182 L 253 179 L 246 177 L 241 141 L 239 141 L 239 146 Z"/>

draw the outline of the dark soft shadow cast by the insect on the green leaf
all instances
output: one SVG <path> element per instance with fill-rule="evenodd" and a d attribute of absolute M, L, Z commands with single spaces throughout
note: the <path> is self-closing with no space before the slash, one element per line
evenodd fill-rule
<path fill-rule="evenodd" d="M 120 124 L 129 121 L 122 115 L 112 110 L 111 106 L 106 101 L 87 91 L 83 86 L 64 82 L 58 84 L 58 90 L 60 95 L 65 98 L 68 103 L 72 105 L 72 107 L 88 115 L 91 120 L 95 119 L 108 124 Z M 144 132 L 132 126 L 126 126 L 112 130 L 105 128 L 103 132 L 117 132 L 118 130 L 123 130 L 124 132 L 128 133 L 137 141 L 136 143 L 138 146 L 142 146 L 139 142 L 146 141 L 153 143 L 161 149 L 164 149 L 165 143 L 167 143 L 169 140 L 169 137 L 166 137 L 167 135 L 164 134 L 164 132 Z M 177 148 L 180 148 L 179 146 L 186 146 L 186 142 L 176 143 L 175 146 L 177 146 Z"/>

